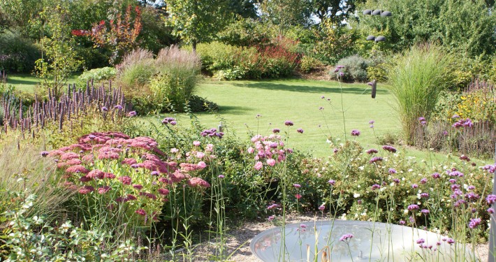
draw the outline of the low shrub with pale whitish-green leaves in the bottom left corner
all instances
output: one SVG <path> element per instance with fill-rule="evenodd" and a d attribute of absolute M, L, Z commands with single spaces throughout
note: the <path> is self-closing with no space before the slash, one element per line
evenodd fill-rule
<path fill-rule="evenodd" d="M 84 230 L 71 221 L 52 227 L 43 215 L 32 215 L 38 198 L 25 193 L 15 196 L 16 208 L 4 215 L 10 223 L 8 235 L 2 236 L 3 250 L 9 254 L 5 261 L 136 261 L 140 250 L 131 240 L 115 242 L 109 232 L 98 228 Z M 70 235 L 70 238 L 68 237 Z M 95 248 L 98 247 L 98 248 Z"/>

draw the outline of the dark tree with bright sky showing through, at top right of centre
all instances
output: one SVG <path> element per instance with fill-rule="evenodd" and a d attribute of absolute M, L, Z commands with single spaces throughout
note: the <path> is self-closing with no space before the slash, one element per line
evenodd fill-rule
<path fill-rule="evenodd" d="M 356 9 L 356 2 L 360 0 L 311 0 L 312 13 L 319 20 L 330 20 L 340 24 Z"/>

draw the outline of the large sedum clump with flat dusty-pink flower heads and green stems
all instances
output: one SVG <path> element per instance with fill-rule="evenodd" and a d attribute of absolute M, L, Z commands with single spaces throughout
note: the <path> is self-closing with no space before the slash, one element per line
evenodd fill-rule
<path fill-rule="evenodd" d="M 78 208 L 85 216 L 108 216 L 113 223 L 125 219 L 133 228 L 158 221 L 177 187 L 198 194 L 210 187 L 195 176 L 207 166 L 203 152 L 189 152 L 187 159 L 176 154 L 163 161 L 166 153 L 157 145 L 148 137 L 90 133 L 78 143 L 42 154 L 55 158 L 57 169 L 64 173 L 64 187 L 77 191 Z"/>

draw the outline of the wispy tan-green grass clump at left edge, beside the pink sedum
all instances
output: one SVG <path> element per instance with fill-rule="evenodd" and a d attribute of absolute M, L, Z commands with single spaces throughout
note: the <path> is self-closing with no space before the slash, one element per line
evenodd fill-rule
<path fill-rule="evenodd" d="M 55 173 L 48 152 L 39 152 L 32 145 L 0 145 L 0 214 L 15 209 L 21 199 L 19 192 L 38 196 L 27 216 L 60 218 L 68 191 L 60 189 L 61 177 Z M 1 224 L 1 223 L 0 223 Z M 0 225 L 1 228 L 1 225 Z"/>

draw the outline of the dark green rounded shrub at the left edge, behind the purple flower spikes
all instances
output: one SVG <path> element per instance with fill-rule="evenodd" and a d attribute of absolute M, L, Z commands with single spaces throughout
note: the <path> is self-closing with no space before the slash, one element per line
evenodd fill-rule
<path fill-rule="evenodd" d="M 15 31 L 0 34 L 0 71 L 31 73 L 41 51 Z"/>

